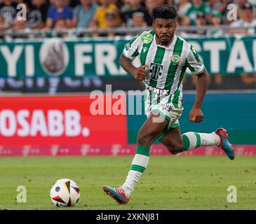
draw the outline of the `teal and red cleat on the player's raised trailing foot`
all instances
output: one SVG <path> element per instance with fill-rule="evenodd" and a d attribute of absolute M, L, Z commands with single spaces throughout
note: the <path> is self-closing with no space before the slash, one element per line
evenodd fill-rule
<path fill-rule="evenodd" d="M 229 139 L 227 139 L 227 130 L 224 130 L 224 128 L 221 127 L 215 131 L 215 134 L 217 134 L 220 137 L 220 145 L 218 147 L 221 148 L 226 153 L 227 157 L 230 160 L 234 160 L 234 148 L 229 143 Z"/>

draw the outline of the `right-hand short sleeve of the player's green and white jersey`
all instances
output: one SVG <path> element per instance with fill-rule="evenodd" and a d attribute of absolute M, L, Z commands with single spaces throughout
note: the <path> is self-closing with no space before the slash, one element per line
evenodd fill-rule
<path fill-rule="evenodd" d="M 189 53 L 187 55 L 185 65 L 189 68 L 192 75 L 200 74 L 205 68 L 198 51 L 193 47 L 193 45 L 190 45 L 189 47 Z"/>

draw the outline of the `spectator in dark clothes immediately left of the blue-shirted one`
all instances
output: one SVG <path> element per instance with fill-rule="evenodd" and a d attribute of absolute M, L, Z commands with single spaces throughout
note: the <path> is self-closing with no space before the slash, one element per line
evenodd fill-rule
<path fill-rule="evenodd" d="M 48 4 L 46 0 L 32 0 L 27 14 L 27 27 L 41 29 L 46 24 Z"/>

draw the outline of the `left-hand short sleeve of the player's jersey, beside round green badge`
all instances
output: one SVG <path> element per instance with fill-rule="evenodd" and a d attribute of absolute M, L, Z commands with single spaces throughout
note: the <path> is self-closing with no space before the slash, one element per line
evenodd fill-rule
<path fill-rule="evenodd" d="M 140 40 L 141 34 L 137 34 L 133 40 L 128 42 L 123 48 L 123 55 L 133 61 L 137 55 L 139 55 L 140 48 L 142 46 L 142 41 Z"/>

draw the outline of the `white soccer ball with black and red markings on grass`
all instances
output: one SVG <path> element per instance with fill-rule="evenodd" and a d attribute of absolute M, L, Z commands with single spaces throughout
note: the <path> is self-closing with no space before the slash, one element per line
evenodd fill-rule
<path fill-rule="evenodd" d="M 79 186 L 70 179 L 60 179 L 50 189 L 50 199 L 57 207 L 74 207 L 79 197 Z"/>

